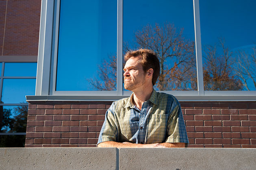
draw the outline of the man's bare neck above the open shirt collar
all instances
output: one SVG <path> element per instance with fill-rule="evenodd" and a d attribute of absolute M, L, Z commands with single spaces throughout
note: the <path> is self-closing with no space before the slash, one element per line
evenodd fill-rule
<path fill-rule="evenodd" d="M 133 103 L 141 110 L 143 103 L 150 99 L 153 86 L 133 91 Z"/>

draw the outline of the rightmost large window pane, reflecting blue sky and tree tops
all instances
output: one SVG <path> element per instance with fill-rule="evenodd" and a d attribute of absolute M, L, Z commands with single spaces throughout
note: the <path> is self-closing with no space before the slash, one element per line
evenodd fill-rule
<path fill-rule="evenodd" d="M 205 90 L 256 90 L 256 1 L 200 0 Z"/>

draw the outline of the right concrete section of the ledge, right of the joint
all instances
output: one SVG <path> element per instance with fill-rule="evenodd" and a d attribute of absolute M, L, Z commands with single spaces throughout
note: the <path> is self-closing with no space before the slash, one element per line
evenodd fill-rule
<path fill-rule="evenodd" d="M 120 170 L 255 170 L 256 149 L 119 149 Z"/>

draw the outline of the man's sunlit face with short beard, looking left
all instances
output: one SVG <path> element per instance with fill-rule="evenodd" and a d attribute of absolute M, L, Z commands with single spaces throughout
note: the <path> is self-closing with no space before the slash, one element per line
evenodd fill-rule
<path fill-rule="evenodd" d="M 145 72 L 138 57 L 130 57 L 124 66 L 124 88 L 134 90 L 145 83 Z"/>

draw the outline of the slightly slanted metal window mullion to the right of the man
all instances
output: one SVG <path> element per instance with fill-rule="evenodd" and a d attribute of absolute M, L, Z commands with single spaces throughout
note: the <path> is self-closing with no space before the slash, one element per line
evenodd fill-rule
<path fill-rule="evenodd" d="M 204 96 L 204 77 L 203 77 L 204 75 L 203 75 L 203 61 L 202 61 L 199 0 L 193 0 L 193 8 L 194 8 L 194 26 L 195 26 L 195 53 L 196 53 L 196 65 L 197 65 L 197 89 L 198 89 L 198 95 Z"/>

